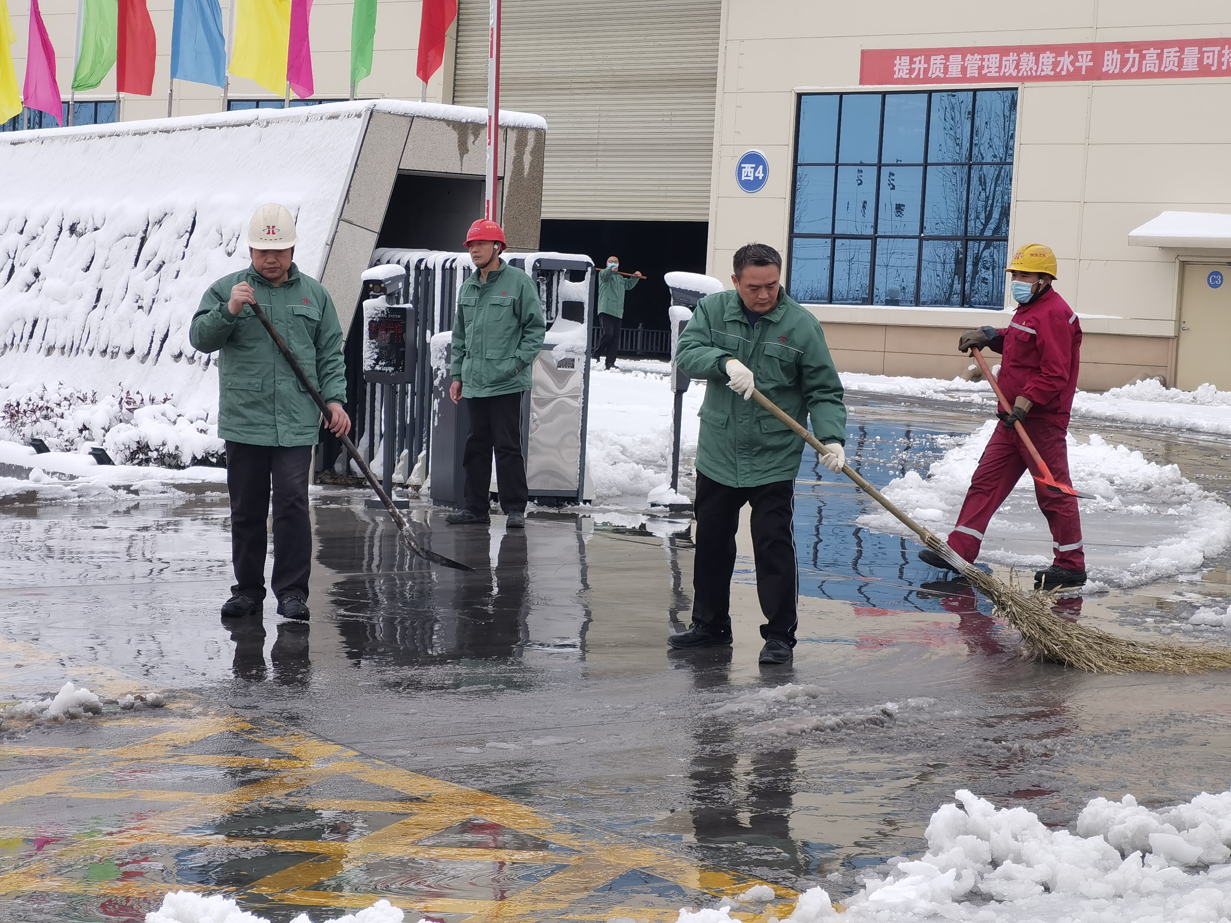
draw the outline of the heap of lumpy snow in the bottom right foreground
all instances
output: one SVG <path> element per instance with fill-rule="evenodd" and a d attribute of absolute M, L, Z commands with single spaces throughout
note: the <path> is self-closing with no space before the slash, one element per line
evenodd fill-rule
<path fill-rule="evenodd" d="M 838 917 L 820 887 L 784 923 L 1220 923 L 1231 917 L 1231 791 L 1151 811 L 1097 797 L 1075 831 L 970 791 L 932 815 L 918 858 L 890 859 Z M 878 870 L 879 871 L 879 870 Z M 740 895 L 735 901 L 744 901 Z M 732 898 L 677 923 L 728 923 Z"/>

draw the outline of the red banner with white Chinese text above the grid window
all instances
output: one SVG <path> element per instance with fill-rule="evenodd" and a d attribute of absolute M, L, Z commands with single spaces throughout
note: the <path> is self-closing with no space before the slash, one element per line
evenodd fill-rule
<path fill-rule="evenodd" d="M 863 86 L 1231 76 L 1231 39 L 1086 42 L 992 48 L 870 48 Z"/>

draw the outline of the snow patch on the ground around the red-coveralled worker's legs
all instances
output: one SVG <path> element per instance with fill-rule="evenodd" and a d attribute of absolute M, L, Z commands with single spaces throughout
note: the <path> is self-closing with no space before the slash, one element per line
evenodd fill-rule
<path fill-rule="evenodd" d="M 883 492 L 943 537 L 956 522 L 970 477 L 997 426 L 990 420 L 971 436 L 952 437 L 950 448 L 932 464 L 926 479 L 907 471 Z M 1140 452 L 1113 446 L 1097 434 L 1086 441 L 1069 437 L 1069 464 L 1073 486 L 1098 497 L 1081 501 L 1081 511 L 1086 567 L 1101 585 L 1133 587 L 1192 573 L 1231 544 L 1231 507 L 1185 479 L 1177 465 L 1147 461 Z M 907 534 L 879 509 L 859 517 L 858 523 Z M 1051 562 L 1051 534 L 1030 477 L 1022 477 L 992 517 L 980 559 L 1023 569 Z"/>

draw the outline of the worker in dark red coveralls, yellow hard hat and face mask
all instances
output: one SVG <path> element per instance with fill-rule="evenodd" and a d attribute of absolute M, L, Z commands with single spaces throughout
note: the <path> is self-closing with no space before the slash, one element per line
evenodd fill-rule
<path fill-rule="evenodd" d="M 1014 421 L 1022 421 L 1055 479 L 1071 484 L 1065 437 L 1077 390 L 1081 324 L 1051 286 L 1056 278 L 1056 255 L 1051 247 L 1027 244 L 1014 254 L 1008 272 L 1013 300 L 1018 303 L 1013 320 L 1004 330 L 990 326 L 968 330 L 958 341 L 963 352 L 980 347 L 1004 357 L 1000 386 L 1013 406 L 1012 412 L 1002 410 L 998 414 L 1003 426 L 996 427 L 984 449 L 958 524 L 949 533 L 949 546 L 968 561 L 979 556 L 992 514 L 1022 475 L 1030 470 L 1030 457 L 1013 428 Z M 1038 482 L 1034 495 L 1048 518 L 1055 551 L 1051 566 L 1035 572 L 1035 588 L 1065 589 L 1085 585 L 1086 555 L 1077 498 Z M 920 559 L 933 567 L 953 570 L 936 551 L 921 551 Z"/>

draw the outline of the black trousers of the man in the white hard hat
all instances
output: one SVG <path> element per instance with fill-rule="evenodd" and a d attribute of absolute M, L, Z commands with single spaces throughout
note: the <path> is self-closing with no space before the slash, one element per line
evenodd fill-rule
<path fill-rule="evenodd" d="M 231 503 L 231 593 L 265 599 L 266 521 L 273 492 L 273 596 L 308 598 L 311 522 L 308 475 L 311 446 L 250 446 L 227 442 L 227 490 Z"/>

